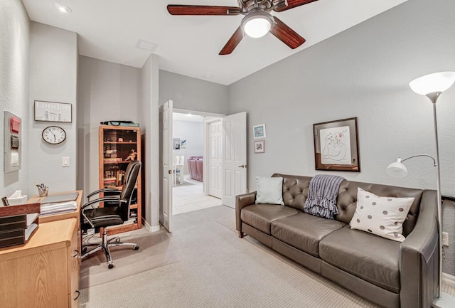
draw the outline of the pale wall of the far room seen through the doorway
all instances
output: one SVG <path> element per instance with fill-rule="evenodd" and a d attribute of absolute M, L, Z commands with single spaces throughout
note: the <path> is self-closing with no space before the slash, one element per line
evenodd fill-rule
<path fill-rule="evenodd" d="M 186 149 L 174 149 L 172 156 L 184 156 L 183 174 L 189 174 L 188 159 L 190 156 L 203 156 L 203 124 L 202 122 L 173 120 L 173 138 L 186 140 Z"/>

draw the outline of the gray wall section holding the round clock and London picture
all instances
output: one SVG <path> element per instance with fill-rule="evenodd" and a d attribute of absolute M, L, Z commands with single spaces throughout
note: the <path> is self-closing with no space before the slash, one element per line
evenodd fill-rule
<path fill-rule="evenodd" d="M 72 191 L 76 189 L 77 170 L 77 33 L 36 22 L 31 22 L 30 33 L 28 115 L 32 125 L 29 130 L 28 189 L 32 194 L 37 194 L 33 183 L 44 183 L 49 186 L 50 193 Z M 73 122 L 34 121 L 35 100 L 70 103 Z M 52 145 L 43 142 L 41 132 L 50 125 L 65 129 L 65 142 Z M 70 157 L 70 166 L 62 166 L 63 156 Z"/>

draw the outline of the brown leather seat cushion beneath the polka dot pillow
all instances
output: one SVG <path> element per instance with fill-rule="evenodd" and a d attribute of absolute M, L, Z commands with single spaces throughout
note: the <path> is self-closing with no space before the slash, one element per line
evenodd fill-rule
<path fill-rule="evenodd" d="M 391 292 L 400 292 L 400 242 L 387 240 L 349 225 L 319 243 L 322 260 Z"/>

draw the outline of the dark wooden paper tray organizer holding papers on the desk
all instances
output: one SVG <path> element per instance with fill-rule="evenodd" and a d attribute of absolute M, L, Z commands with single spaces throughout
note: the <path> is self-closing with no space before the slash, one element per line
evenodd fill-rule
<path fill-rule="evenodd" d="M 38 228 L 40 203 L 0 207 L 0 248 L 26 243 Z"/>

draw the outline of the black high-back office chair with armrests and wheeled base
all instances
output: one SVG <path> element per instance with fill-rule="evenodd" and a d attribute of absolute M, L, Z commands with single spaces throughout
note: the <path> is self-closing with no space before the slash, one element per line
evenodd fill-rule
<path fill-rule="evenodd" d="M 111 252 L 109 247 L 111 246 L 129 246 L 134 250 L 139 249 L 139 245 L 136 243 L 122 243 L 119 238 L 112 238 L 107 240 L 106 227 L 110 225 L 122 225 L 129 219 L 129 205 L 131 203 L 134 186 L 136 185 L 137 177 L 141 169 L 140 161 L 132 161 L 128 164 L 127 170 L 125 171 L 125 184 L 122 187 L 122 191 L 115 190 L 113 188 L 104 188 L 93 193 L 90 193 L 88 198 L 94 196 L 97 193 L 117 193 L 119 196 L 105 196 L 104 198 L 97 198 L 92 201 L 88 201 L 82 206 L 80 216 L 80 228 L 82 231 L 95 228 L 95 233 L 99 232 L 100 228 L 104 228 L 102 233 L 101 243 L 87 243 L 82 245 L 82 259 L 96 253 L 98 250 L 103 250 L 107 259 L 107 266 L 109 268 L 114 267 L 112 261 Z M 102 208 L 95 208 L 93 205 L 105 202 L 105 206 Z M 141 219 L 138 217 L 137 219 Z M 89 247 L 95 246 L 88 250 Z M 88 251 L 87 251 L 88 250 Z"/>

